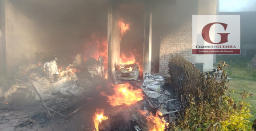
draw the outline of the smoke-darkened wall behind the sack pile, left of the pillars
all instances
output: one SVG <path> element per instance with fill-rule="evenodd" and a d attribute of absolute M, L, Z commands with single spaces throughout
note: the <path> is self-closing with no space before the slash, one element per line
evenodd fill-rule
<path fill-rule="evenodd" d="M 8 74 L 18 65 L 36 64 L 36 53 L 56 54 L 60 62 L 88 50 L 96 52 L 86 45 L 107 39 L 106 0 L 2 1 L 7 60 L 3 64 Z"/>

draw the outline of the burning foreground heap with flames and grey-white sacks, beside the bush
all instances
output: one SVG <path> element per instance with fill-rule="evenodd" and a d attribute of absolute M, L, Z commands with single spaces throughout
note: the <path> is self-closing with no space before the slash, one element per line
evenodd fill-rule
<path fill-rule="evenodd" d="M 179 107 L 175 88 L 163 76 L 146 73 L 141 86 L 132 82 L 113 86 L 113 95 L 102 93 L 111 106 L 95 112 L 96 131 L 167 131 L 175 122 Z"/>

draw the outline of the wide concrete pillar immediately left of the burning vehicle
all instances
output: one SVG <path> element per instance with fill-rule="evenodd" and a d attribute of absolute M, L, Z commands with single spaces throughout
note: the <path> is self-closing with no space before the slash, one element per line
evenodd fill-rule
<path fill-rule="evenodd" d="M 117 1 L 108 0 L 108 81 L 117 80 L 120 62 L 120 27 L 118 26 Z"/>

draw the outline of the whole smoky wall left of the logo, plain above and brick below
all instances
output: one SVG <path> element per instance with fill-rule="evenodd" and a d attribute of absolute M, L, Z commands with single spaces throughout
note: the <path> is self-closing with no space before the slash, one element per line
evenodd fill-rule
<path fill-rule="evenodd" d="M 216 14 L 219 14 L 219 0 L 216 4 Z M 197 36 L 192 36 L 191 15 L 198 14 L 198 1 L 178 0 L 177 4 L 167 12 L 170 15 L 164 16 L 167 16 L 166 23 L 170 26 L 165 25 L 166 27 L 161 28 L 162 32 L 168 31 L 161 35 L 158 72 L 164 76 L 168 75 L 170 54 L 181 53 L 189 62 L 195 64 L 195 54 L 192 54 L 192 37 L 196 38 Z M 214 59 L 216 61 L 216 55 Z"/>

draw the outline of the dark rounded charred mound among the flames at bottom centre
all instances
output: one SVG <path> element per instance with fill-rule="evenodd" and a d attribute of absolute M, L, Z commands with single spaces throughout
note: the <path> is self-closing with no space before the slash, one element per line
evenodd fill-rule
<path fill-rule="evenodd" d="M 130 106 L 119 106 L 106 110 L 107 120 L 99 124 L 98 131 L 150 131 L 139 110 L 150 110 L 146 100 L 138 101 Z"/>

